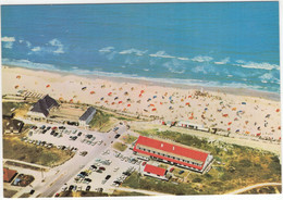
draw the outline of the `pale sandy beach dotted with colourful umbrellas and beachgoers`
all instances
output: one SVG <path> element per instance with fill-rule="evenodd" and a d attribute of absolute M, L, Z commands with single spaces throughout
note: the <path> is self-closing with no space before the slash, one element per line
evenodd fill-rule
<path fill-rule="evenodd" d="M 111 80 L 2 66 L 2 95 L 19 90 L 164 121 L 189 121 L 231 133 L 281 139 L 280 101 L 268 99 L 267 93 L 253 92 L 249 97 L 236 95 L 235 90 L 226 92 L 227 88 L 201 92 L 197 88 L 140 84 L 125 78 Z"/>

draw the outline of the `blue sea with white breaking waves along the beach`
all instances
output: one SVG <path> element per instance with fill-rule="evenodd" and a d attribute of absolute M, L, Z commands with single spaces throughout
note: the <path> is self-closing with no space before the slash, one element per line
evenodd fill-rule
<path fill-rule="evenodd" d="M 1 11 L 3 64 L 280 92 L 278 2 Z"/>

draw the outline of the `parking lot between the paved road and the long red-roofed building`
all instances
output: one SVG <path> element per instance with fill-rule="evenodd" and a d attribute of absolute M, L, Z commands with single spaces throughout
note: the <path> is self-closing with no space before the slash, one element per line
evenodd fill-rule
<path fill-rule="evenodd" d="M 133 155 L 132 150 L 121 153 L 108 148 L 82 168 L 58 192 L 65 190 L 111 192 L 112 188 L 119 187 L 133 172 L 139 171 L 140 164 L 142 161 Z"/>

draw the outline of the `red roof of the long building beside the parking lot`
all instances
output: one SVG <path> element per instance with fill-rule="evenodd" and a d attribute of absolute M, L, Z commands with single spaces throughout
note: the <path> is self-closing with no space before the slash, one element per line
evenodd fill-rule
<path fill-rule="evenodd" d="M 156 153 L 149 153 L 149 152 L 146 152 L 146 151 L 142 151 L 142 150 L 136 148 L 137 145 L 147 146 L 147 147 L 150 147 L 150 148 L 153 148 L 153 149 L 157 149 L 157 150 L 161 150 L 161 151 L 174 153 L 176 155 L 185 157 L 185 158 L 188 158 L 188 159 L 201 161 L 204 164 L 205 164 L 207 157 L 209 154 L 209 153 L 206 153 L 206 152 L 202 152 L 202 151 L 190 149 L 188 147 L 186 148 L 186 147 L 182 147 L 182 146 L 176 146 L 176 145 L 168 143 L 168 142 L 164 142 L 164 141 L 160 141 L 160 140 L 144 137 L 144 136 L 138 137 L 136 145 L 134 147 L 134 151 L 145 153 L 145 154 L 148 154 L 148 155 L 153 155 L 153 157 L 157 157 L 157 158 L 160 158 L 160 159 L 164 159 L 164 160 L 168 160 L 170 162 L 175 162 L 175 163 L 179 163 L 179 164 L 196 167 L 196 168 L 199 168 L 199 170 L 202 168 L 204 164 L 202 164 L 202 166 L 197 166 L 197 165 L 193 165 L 193 164 L 189 164 L 189 163 L 177 161 L 177 160 L 172 159 L 172 158 L 167 158 L 167 157 L 162 157 L 162 155 L 159 155 L 159 154 L 156 154 Z"/>

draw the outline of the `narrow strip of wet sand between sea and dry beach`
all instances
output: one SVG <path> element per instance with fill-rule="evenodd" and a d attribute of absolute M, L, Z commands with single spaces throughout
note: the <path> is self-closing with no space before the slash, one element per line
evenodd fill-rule
<path fill-rule="evenodd" d="M 24 68 L 29 71 L 36 72 L 48 72 L 53 74 L 59 74 L 62 76 L 77 76 L 82 78 L 89 78 L 89 79 L 106 79 L 109 82 L 115 83 L 130 83 L 130 84 L 140 84 L 146 86 L 159 86 L 163 88 L 177 88 L 177 89 L 188 89 L 188 90 L 204 90 L 204 91 L 211 91 L 217 93 L 227 93 L 227 95 L 235 95 L 235 96 L 244 96 L 244 97 L 255 97 L 255 98 L 262 98 L 267 100 L 278 101 L 280 102 L 281 95 L 271 91 L 262 91 L 249 88 L 234 88 L 234 87 L 209 87 L 209 86 L 200 86 L 200 85 L 186 85 L 186 84 L 173 84 L 173 83 L 162 83 L 158 80 L 147 79 L 146 77 L 118 77 L 118 76 L 102 76 L 97 74 L 89 74 L 89 75 L 82 75 L 82 74 L 74 74 L 72 72 L 64 72 L 64 71 L 52 71 L 52 70 L 41 70 L 41 68 L 28 68 L 19 65 L 8 65 L 4 64 L 2 67 L 12 67 L 12 68 Z"/>

